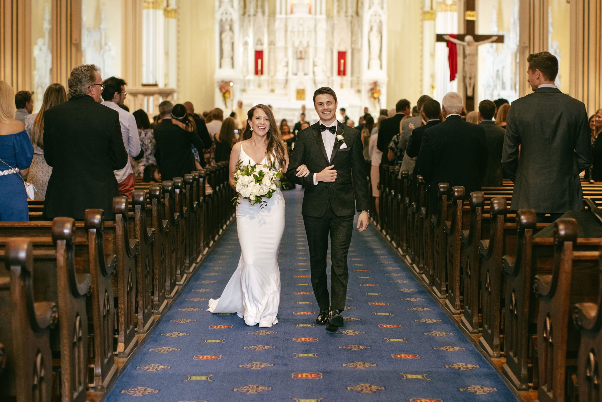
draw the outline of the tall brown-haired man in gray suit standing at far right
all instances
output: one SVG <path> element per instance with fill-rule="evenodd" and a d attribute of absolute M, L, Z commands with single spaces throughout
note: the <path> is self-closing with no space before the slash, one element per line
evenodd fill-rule
<path fill-rule="evenodd" d="M 527 62 L 534 92 L 512 103 L 501 166 L 514 181 L 511 209 L 535 209 L 542 222 L 582 209 L 579 174 L 592 162 L 591 135 L 583 102 L 554 85 L 556 57 L 535 53 Z"/>

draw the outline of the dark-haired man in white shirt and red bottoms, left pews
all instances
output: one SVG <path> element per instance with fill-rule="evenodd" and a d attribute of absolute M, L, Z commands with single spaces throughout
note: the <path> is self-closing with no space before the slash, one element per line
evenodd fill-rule
<path fill-rule="evenodd" d="M 125 145 L 126 151 L 134 160 L 140 160 L 144 153 L 140 149 L 140 136 L 138 135 L 138 127 L 136 119 L 132 113 L 126 111 L 120 105 L 123 105 L 128 92 L 125 90 L 127 83 L 122 78 L 109 77 L 104 81 L 104 89 L 102 90 L 102 105 L 108 108 L 117 110 L 119 113 L 119 124 L 121 126 L 121 134 L 123 136 L 123 145 Z M 126 163 L 125 168 L 115 171 L 115 177 L 117 178 L 117 188 L 119 189 L 119 195 L 125 195 L 128 199 L 132 199 L 132 193 L 136 181 L 134 179 L 134 170 L 129 162 Z"/>

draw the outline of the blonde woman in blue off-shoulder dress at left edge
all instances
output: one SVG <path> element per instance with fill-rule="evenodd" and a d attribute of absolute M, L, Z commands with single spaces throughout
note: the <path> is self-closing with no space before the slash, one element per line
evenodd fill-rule
<path fill-rule="evenodd" d="M 0 81 L 0 221 L 26 222 L 29 211 L 21 175 L 27 174 L 34 149 L 23 123 L 13 119 L 14 106 L 13 88 Z"/>

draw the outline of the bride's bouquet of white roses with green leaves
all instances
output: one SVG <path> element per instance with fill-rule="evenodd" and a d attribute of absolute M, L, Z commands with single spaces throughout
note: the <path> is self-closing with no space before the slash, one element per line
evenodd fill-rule
<path fill-rule="evenodd" d="M 249 198 L 251 205 L 267 205 L 265 198 L 272 198 L 276 189 L 282 187 L 282 169 L 276 169 L 272 165 L 259 163 L 255 165 L 243 165 L 239 161 L 234 172 L 234 183 L 238 193 L 232 201 L 237 205 L 240 197 Z"/>

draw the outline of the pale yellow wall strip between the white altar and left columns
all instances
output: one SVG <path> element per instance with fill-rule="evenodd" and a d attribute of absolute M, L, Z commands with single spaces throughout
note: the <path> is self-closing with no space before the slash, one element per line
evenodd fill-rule
<path fill-rule="evenodd" d="M 197 113 L 215 107 L 215 0 L 179 0 L 178 102 Z"/>

